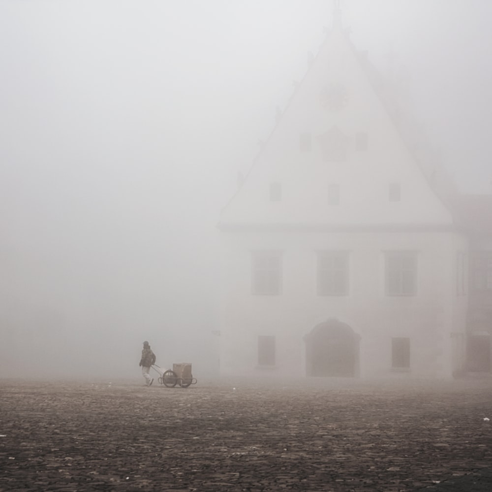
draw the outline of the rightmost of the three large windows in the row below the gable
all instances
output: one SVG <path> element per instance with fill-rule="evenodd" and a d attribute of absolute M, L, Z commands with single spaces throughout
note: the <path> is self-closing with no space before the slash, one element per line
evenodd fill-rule
<path fill-rule="evenodd" d="M 386 295 L 417 293 L 417 255 L 414 252 L 386 253 Z"/>

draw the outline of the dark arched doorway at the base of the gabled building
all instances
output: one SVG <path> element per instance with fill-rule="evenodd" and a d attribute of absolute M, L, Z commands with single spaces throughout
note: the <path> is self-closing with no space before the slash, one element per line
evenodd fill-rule
<path fill-rule="evenodd" d="M 360 336 L 346 323 L 331 319 L 306 336 L 307 376 L 359 375 Z"/>

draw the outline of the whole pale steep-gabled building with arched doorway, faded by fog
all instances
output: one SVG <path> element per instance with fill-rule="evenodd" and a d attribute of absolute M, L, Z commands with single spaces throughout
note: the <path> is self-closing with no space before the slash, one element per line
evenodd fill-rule
<path fill-rule="evenodd" d="M 488 337 L 492 234 L 385 94 L 336 20 L 221 216 L 223 374 L 452 377 Z"/>

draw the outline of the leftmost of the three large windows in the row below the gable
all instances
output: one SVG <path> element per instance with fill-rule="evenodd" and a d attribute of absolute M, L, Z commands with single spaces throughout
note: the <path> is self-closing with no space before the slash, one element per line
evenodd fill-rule
<path fill-rule="evenodd" d="M 282 263 L 277 251 L 255 252 L 252 255 L 252 286 L 254 295 L 279 295 Z"/>

